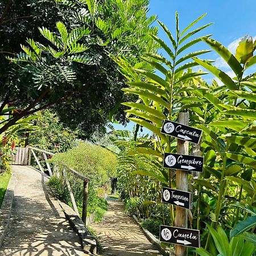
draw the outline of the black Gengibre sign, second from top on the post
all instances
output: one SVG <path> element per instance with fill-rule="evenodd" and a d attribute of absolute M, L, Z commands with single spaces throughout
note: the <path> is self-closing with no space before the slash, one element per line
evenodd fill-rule
<path fill-rule="evenodd" d="M 164 168 L 203 172 L 203 165 L 202 156 L 164 153 Z"/>

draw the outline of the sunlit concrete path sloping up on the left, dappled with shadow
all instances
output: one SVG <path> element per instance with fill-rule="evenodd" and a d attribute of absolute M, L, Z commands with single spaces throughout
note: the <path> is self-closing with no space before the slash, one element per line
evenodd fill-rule
<path fill-rule="evenodd" d="M 47 177 L 26 166 L 13 166 L 16 178 L 9 234 L 0 255 L 87 255 L 57 201 L 44 185 Z"/>

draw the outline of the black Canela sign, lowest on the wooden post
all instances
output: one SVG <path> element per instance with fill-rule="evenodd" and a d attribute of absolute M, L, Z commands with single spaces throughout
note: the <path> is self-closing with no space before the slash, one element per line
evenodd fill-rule
<path fill-rule="evenodd" d="M 191 247 L 200 247 L 200 230 L 160 225 L 160 241 Z"/>

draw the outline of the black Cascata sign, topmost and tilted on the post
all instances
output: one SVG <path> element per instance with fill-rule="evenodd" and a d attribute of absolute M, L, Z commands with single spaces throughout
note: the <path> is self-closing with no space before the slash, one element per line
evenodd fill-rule
<path fill-rule="evenodd" d="M 184 139 L 184 141 L 199 144 L 202 130 L 191 126 L 182 125 L 181 123 L 164 120 L 161 133 L 176 137 L 178 139 Z"/>

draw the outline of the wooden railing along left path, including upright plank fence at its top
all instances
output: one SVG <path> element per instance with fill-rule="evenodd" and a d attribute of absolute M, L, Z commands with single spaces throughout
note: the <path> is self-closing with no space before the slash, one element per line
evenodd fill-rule
<path fill-rule="evenodd" d="M 39 152 L 40 154 L 43 155 L 44 162 L 46 163 L 47 170 L 49 172 L 49 176 L 52 177 L 54 172 L 57 172 L 57 168 L 51 168 L 50 164 L 48 163 L 48 158 L 47 156 L 53 156 L 54 153 L 48 152 L 46 150 L 41 150 L 39 148 L 35 147 L 30 147 L 27 146 L 26 148 L 16 148 L 16 154 L 13 156 L 13 164 L 22 164 L 22 165 L 28 165 L 31 166 L 31 158 L 34 156 L 36 164 L 38 164 L 39 170 L 45 174 L 44 168 L 42 167 L 42 164 L 40 163 L 40 160 L 38 156 L 35 154 L 35 151 Z M 71 197 L 73 209 L 75 210 L 76 214 L 79 216 L 79 211 L 77 209 L 75 197 L 73 195 L 73 191 L 71 188 L 71 185 L 69 183 L 67 173 L 66 171 L 70 172 L 72 175 L 76 176 L 80 180 L 83 181 L 84 183 L 84 188 L 83 188 L 83 204 L 82 204 L 82 221 L 86 224 L 86 217 L 87 217 L 87 204 L 88 204 L 88 182 L 89 178 L 80 174 L 76 170 L 73 170 L 72 168 L 69 168 L 66 164 L 61 163 L 61 166 L 63 166 L 63 177 L 65 180 L 65 183 L 67 184 L 69 195 Z M 56 175 L 56 174 L 55 174 Z"/>

